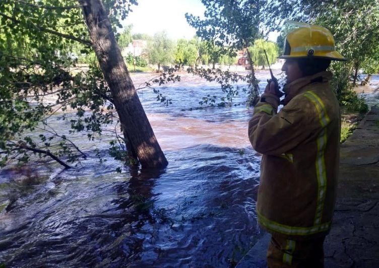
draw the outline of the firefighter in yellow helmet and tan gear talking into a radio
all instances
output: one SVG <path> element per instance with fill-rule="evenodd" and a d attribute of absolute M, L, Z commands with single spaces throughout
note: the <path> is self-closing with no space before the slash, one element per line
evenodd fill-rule
<path fill-rule="evenodd" d="M 269 267 L 323 267 L 341 130 L 326 70 L 331 60 L 346 59 L 328 29 L 300 23 L 288 29 L 279 57 L 285 59 L 284 98 L 280 102 L 282 94 L 269 83 L 248 125 L 250 143 L 262 154 L 258 221 L 271 233 Z"/>

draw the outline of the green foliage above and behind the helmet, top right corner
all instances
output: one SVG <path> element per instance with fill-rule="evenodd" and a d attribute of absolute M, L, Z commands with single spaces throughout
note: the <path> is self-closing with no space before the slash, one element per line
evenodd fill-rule
<path fill-rule="evenodd" d="M 365 63 L 375 65 L 375 51 L 379 43 L 379 2 L 377 0 L 281 0 L 268 5 L 271 17 L 266 21 L 270 29 L 279 29 L 279 20 L 293 19 L 328 28 L 336 41 L 337 50 L 347 62 L 334 62 L 333 86 L 341 102 L 350 94 L 350 78 L 357 79 L 357 71 Z M 363 65 L 362 65 L 363 64 Z"/>

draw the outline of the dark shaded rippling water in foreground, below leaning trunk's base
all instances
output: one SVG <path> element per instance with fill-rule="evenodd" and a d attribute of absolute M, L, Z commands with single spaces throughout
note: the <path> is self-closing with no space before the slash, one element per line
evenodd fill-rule
<path fill-rule="evenodd" d="M 91 168 L 40 171 L 44 179 L 0 214 L 0 263 L 229 266 L 259 237 L 259 156 L 211 145 L 166 156 L 156 171 L 118 174 L 94 157 Z"/>

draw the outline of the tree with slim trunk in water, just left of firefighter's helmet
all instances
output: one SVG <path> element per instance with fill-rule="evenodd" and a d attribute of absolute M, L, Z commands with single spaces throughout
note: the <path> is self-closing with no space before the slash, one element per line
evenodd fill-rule
<path fill-rule="evenodd" d="M 247 48 L 262 37 L 263 12 L 267 1 L 261 0 L 202 0 L 206 7 L 204 19 L 186 14 L 188 23 L 197 29 L 197 35 L 215 45 L 227 46 L 230 50 Z M 250 66 L 252 59 L 247 53 Z M 259 87 L 254 68 L 249 79 L 251 104 L 258 101 Z"/>

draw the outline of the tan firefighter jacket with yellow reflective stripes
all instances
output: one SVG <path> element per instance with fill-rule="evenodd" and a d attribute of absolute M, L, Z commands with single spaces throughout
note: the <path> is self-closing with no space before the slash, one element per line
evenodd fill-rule
<path fill-rule="evenodd" d="M 321 72 L 286 85 L 278 113 L 279 98 L 263 94 L 249 121 L 251 145 L 263 154 L 258 221 L 270 233 L 308 239 L 330 230 L 341 130 L 331 77 Z"/>

